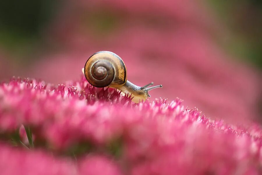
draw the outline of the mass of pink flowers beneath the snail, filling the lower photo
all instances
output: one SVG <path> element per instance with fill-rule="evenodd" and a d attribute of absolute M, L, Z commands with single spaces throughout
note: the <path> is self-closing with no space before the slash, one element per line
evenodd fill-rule
<path fill-rule="evenodd" d="M 31 130 L 30 150 L 21 126 Z M 4 174 L 262 173 L 259 126 L 210 120 L 180 99 L 135 104 L 84 77 L 1 83 L 0 136 Z"/>

